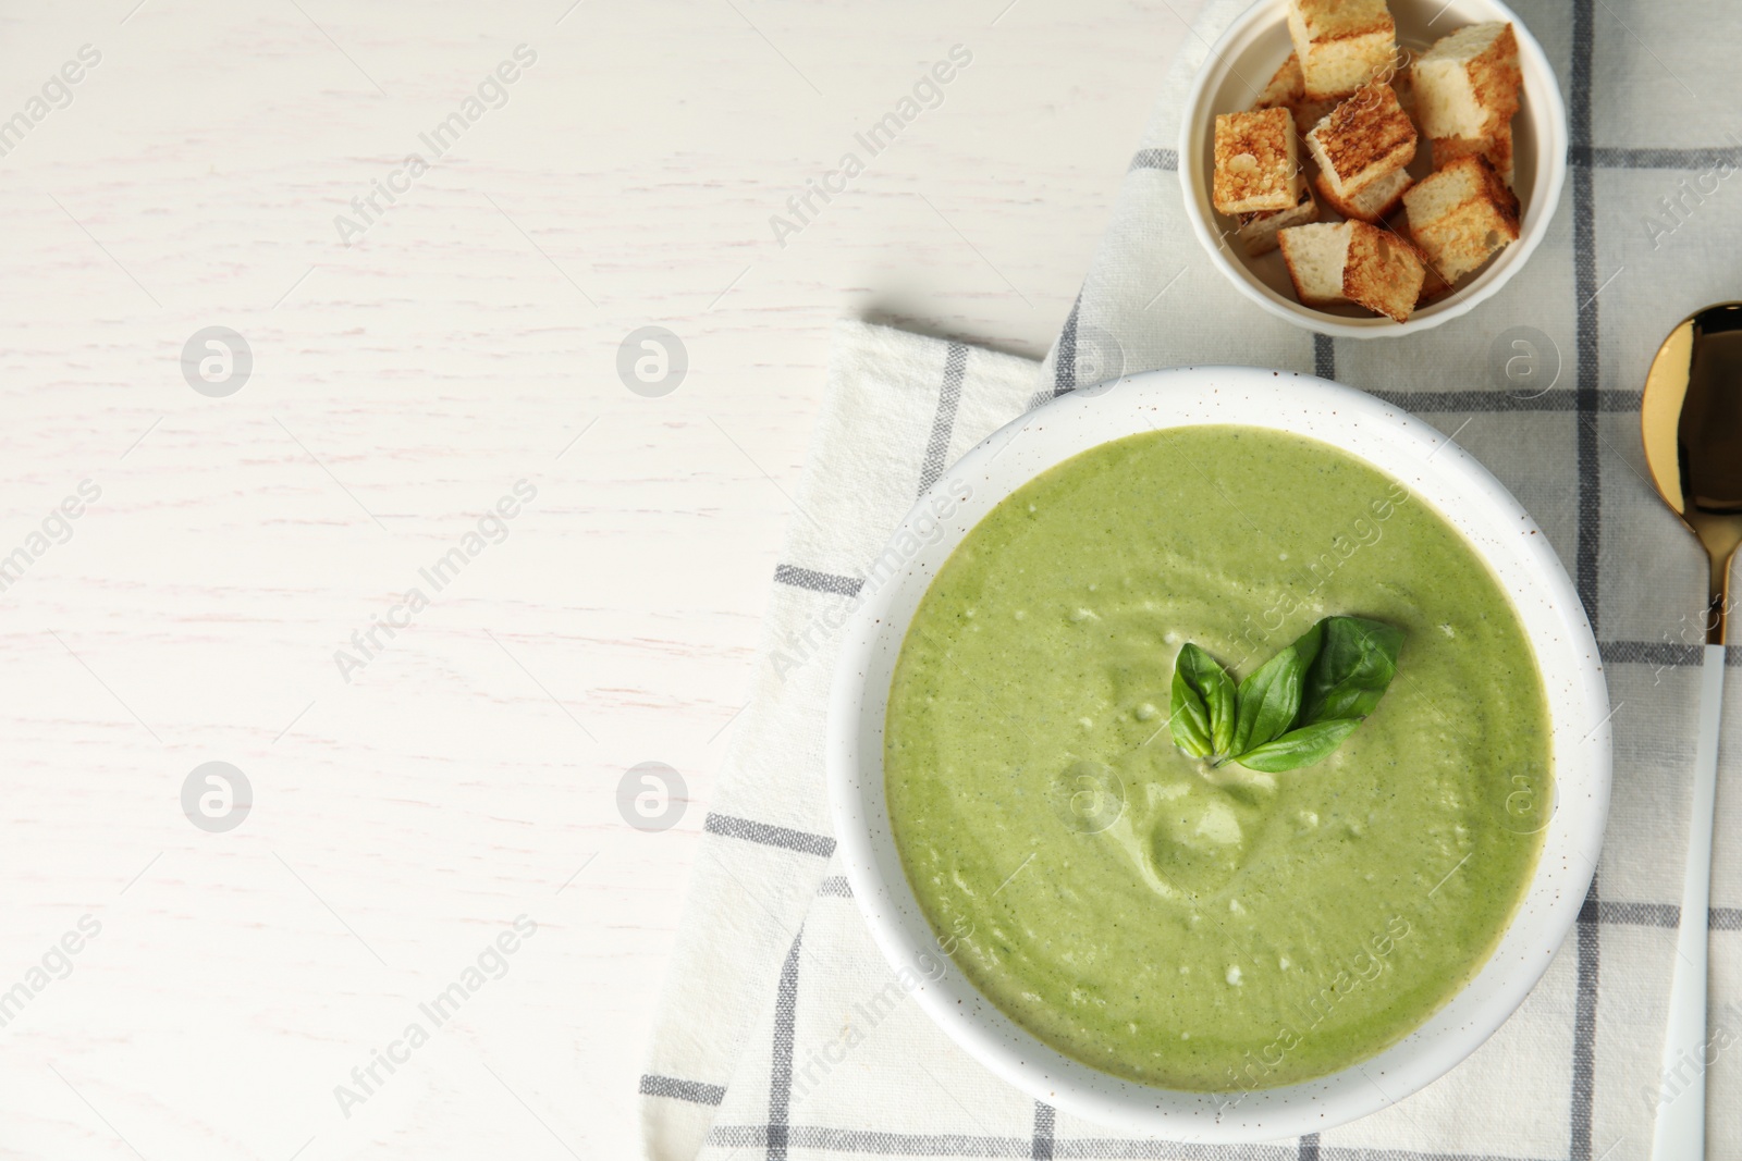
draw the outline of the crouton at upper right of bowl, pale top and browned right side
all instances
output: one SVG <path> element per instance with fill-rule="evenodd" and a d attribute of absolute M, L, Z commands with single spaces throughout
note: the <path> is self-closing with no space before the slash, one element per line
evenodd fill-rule
<path fill-rule="evenodd" d="M 1415 63 L 1416 117 L 1428 138 L 1489 138 L 1519 111 L 1519 42 L 1512 24 L 1460 28 Z"/>

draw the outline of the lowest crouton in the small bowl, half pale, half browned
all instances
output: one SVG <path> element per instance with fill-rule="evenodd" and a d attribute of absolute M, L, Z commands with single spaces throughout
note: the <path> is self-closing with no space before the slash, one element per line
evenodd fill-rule
<path fill-rule="evenodd" d="M 1308 306 L 1359 303 L 1406 322 L 1421 294 L 1421 256 L 1364 221 L 1291 226 L 1277 235 L 1294 294 Z"/>

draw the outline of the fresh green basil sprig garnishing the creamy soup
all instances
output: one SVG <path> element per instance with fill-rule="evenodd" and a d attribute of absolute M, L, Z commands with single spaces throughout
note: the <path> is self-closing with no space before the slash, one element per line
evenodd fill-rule
<path fill-rule="evenodd" d="M 1397 675 L 1404 634 L 1362 616 L 1327 616 L 1239 686 L 1195 644 L 1174 661 L 1174 743 L 1211 766 L 1282 773 L 1322 761 L 1355 731 Z"/>

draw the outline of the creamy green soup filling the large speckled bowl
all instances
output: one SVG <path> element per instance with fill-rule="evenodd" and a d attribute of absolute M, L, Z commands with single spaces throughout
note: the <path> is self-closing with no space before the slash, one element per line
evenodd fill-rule
<path fill-rule="evenodd" d="M 1186 642 L 1239 682 L 1345 616 L 1401 648 L 1327 755 L 1176 745 Z M 1500 940 L 1552 801 L 1542 679 L 1470 545 L 1366 463 L 1247 426 L 1103 444 L 998 505 L 908 630 L 885 776 L 915 895 L 1002 1011 L 1226 1093 L 1427 1020 Z"/>

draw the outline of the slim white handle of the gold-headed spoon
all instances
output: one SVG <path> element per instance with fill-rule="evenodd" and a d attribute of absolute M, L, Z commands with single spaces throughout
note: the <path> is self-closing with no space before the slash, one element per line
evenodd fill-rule
<path fill-rule="evenodd" d="M 1688 813 L 1688 869 L 1681 884 L 1676 978 L 1669 989 L 1669 1034 L 1664 1037 L 1664 1074 L 1651 1135 L 1653 1161 L 1702 1161 L 1705 1156 L 1705 940 L 1723 696 L 1725 648 L 1705 646 L 1700 736 L 1693 750 L 1693 801 Z"/>

